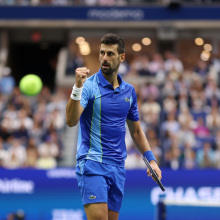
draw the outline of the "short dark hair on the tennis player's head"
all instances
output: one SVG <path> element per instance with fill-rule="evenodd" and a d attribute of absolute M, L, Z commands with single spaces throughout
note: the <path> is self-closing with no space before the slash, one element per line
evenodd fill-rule
<path fill-rule="evenodd" d="M 125 52 L 125 42 L 117 34 L 109 33 L 102 37 L 101 44 L 112 45 L 118 44 L 118 53 L 122 54 Z"/>

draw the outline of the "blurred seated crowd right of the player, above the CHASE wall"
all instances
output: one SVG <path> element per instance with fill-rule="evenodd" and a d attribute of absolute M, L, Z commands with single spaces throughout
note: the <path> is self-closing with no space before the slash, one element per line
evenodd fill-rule
<path fill-rule="evenodd" d="M 135 88 L 142 127 L 162 167 L 220 168 L 219 73 L 217 58 L 189 69 L 171 52 L 132 61 L 128 78 L 151 79 Z M 126 142 L 126 166 L 144 167 L 129 135 Z"/>

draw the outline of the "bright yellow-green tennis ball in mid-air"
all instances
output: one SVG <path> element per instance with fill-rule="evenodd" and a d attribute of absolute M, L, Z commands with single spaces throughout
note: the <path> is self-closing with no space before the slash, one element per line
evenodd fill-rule
<path fill-rule="evenodd" d="M 34 74 L 24 76 L 20 83 L 19 88 L 24 95 L 35 96 L 40 93 L 43 83 L 41 78 Z"/>

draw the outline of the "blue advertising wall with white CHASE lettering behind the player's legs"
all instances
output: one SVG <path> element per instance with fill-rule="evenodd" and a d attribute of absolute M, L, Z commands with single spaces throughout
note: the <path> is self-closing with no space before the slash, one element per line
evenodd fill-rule
<path fill-rule="evenodd" d="M 163 193 L 145 170 L 128 170 L 120 220 L 155 220 L 161 197 L 220 203 L 218 170 L 162 170 Z M 86 220 L 75 170 L 0 170 L 0 219 L 23 210 L 26 220 Z M 188 211 L 187 211 L 188 210 Z M 187 215 L 187 218 L 186 218 Z M 219 220 L 220 208 L 168 207 L 167 220 Z"/>

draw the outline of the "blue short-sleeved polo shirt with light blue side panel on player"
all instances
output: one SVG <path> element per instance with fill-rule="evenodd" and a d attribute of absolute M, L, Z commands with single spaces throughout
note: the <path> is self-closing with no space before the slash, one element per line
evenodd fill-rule
<path fill-rule="evenodd" d="M 138 121 L 137 95 L 132 85 L 118 75 L 120 86 L 113 86 L 99 72 L 89 77 L 80 100 L 84 111 L 80 117 L 77 161 L 90 159 L 124 166 L 126 119 Z"/>

